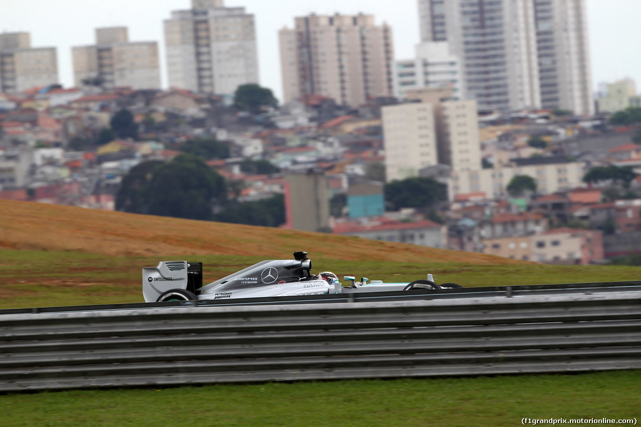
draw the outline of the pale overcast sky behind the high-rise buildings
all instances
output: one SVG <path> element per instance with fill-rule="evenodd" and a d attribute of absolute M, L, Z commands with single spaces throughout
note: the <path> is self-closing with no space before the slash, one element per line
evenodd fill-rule
<path fill-rule="evenodd" d="M 373 13 L 394 31 L 395 57 L 411 58 L 419 42 L 417 0 L 226 0 L 256 17 L 260 83 L 281 94 L 278 29 L 295 16 Z M 592 80 L 630 76 L 641 86 L 641 0 L 587 0 Z M 0 0 L 0 32 L 28 31 L 34 47 L 58 47 L 61 83 L 73 85 L 71 47 L 94 44 L 94 29 L 128 26 L 129 40 L 159 42 L 163 86 L 167 85 L 163 19 L 187 9 L 190 0 Z"/>

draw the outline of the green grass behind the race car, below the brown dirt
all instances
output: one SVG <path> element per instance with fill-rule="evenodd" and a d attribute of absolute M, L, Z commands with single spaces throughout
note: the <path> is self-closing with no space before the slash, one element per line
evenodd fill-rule
<path fill-rule="evenodd" d="M 187 256 L 177 260 L 202 261 L 204 283 L 254 264 L 258 256 Z M 104 256 L 74 251 L 0 250 L 0 308 L 63 305 L 140 303 L 142 267 L 160 261 L 157 256 Z M 162 260 L 169 260 L 169 258 Z M 426 261 L 353 262 L 313 259 L 313 272 L 333 271 L 371 280 L 413 281 L 431 272 L 438 283 L 465 287 L 640 280 L 641 267 L 623 265 L 471 265 Z"/>

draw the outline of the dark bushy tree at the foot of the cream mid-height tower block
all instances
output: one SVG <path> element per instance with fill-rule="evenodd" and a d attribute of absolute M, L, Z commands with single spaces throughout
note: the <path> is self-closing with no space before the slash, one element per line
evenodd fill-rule
<path fill-rule="evenodd" d="M 393 210 L 426 208 L 447 200 L 447 188 L 433 178 L 407 178 L 385 185 L 385 201 Z"/>

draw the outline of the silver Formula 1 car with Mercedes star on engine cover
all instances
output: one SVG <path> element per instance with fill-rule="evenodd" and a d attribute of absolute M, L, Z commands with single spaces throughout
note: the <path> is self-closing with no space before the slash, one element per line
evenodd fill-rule
<path fill-rule="evenodd" d="M 194 299 L 253 298 L 385 292 L 394 290 L 460 288 L 456 283 L 437 285 L 431 274 L 427 280 L 412 283 L 383 283 L 344 276 L 344 286 L 336 274 L 312 274 L 312 260 L 306 252 L 295 252 L 293 260 L 265 260 L 203 286 L 203 263 L 162 261 L 142 269 L 142 294 L 147 303 L 190 301 Z"/>

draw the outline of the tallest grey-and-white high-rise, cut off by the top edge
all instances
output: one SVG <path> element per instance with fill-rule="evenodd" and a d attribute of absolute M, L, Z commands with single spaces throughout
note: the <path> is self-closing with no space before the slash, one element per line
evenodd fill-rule
<path fill-rule="evenodd" d="M 423 42 L 449 42 L 481 110 L 594 112 L 585 0 L 419 0 Z"/>

